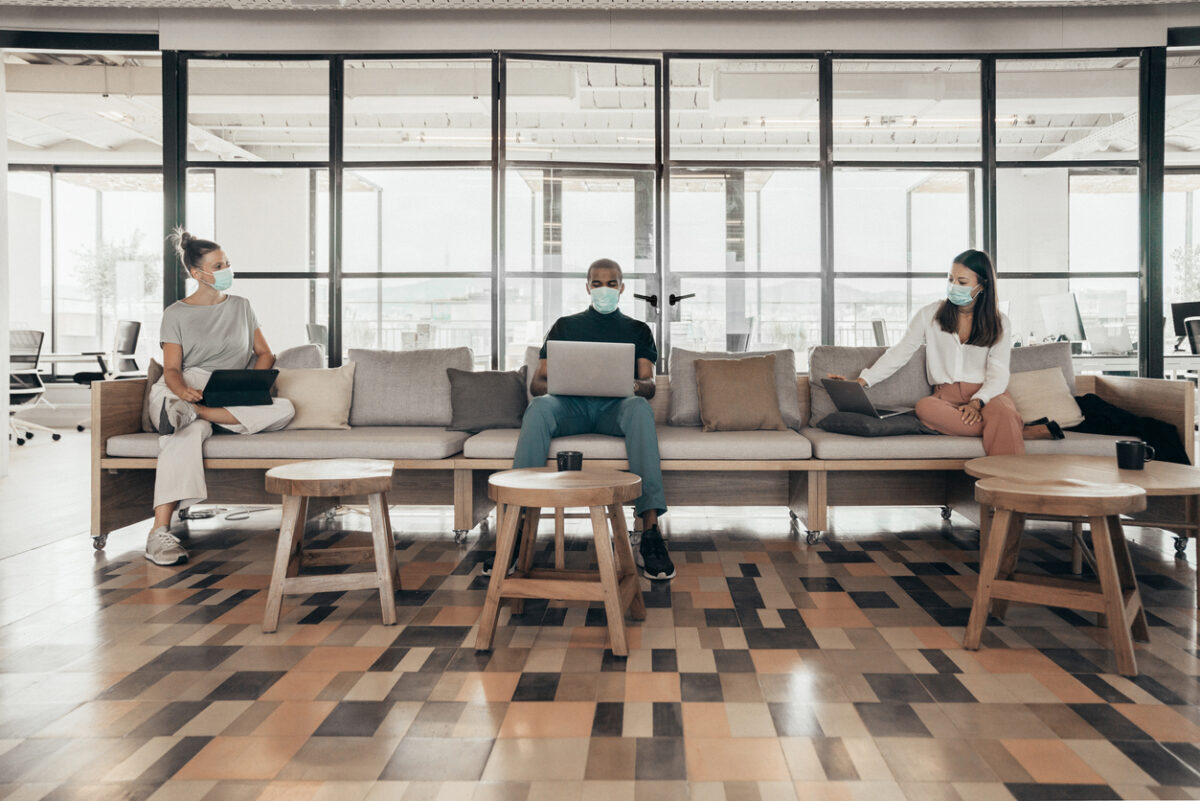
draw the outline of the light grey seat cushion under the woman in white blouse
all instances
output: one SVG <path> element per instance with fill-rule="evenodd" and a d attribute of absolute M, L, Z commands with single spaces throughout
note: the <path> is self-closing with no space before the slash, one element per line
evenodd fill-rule
<path fill-rule="evenodd" d="M 804 436 L 812 441 L 818 459 L 977 459 L 986 456 L 983 440 L 976 436 L 944 436 L 941 434 L 906 434 L 866 439 L 850 434 L 834 434 L 820 428 L 805 428 Z M 1069 453 L 1072 456 L 1115 456 L 1120 436 L 1078 434 L 1067 432 L 1063 440 L 1031 440 L 1026 453 Z"/>

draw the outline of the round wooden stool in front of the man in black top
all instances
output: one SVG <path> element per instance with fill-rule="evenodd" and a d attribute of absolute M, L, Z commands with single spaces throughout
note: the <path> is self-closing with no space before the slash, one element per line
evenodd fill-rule
<path fill-rule="evenodd" d="M 487 480 L 487 494 L 496 501 L 499 534 L 492 562 L 492 580 L 479 616 L 475 650 L 486 651 L 492 648 L 502 598 L 516 598 L 517 604 L 524 598 L 546 598 L 604 601 L 612 652 L 626 656 L 629 646 L 625 644 L 625 608 L 629 607 L 635 620 L 642 620 L 646 618 L 646 604 L 637 582 L 637 567 L 634 565 L 634 550 L 629 546 L 622 504 L 642 494 L 642 480 L 631 472 L 617 470 L 558 472 L 552 468 L 533 468 L 492 475 Z M 505 567 L 512 561 L 522 506 L 526 507 L 524 536 L 521 538 L 516 572 L 509 577 Z M 534 570 L 534 537 L 541 510 L 577 506 L 588 507 L 600 574 L 592 571 Z M 516 610 L 520 612 L 520 606 Z"/>

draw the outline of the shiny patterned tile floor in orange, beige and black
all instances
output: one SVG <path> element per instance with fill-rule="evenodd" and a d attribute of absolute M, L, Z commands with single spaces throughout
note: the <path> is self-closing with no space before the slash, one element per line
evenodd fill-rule
<path fill-rule="evenodd" d="M 964 651 L 978 536 L 936 510 L 840 512 L 815 547 L 780 510 L 677 512 L 628 658 L 601 608 L 545 602 L 475 654 L 491 538 L 394 519 L 394 627 L 328 592 L 263 634 L 271 514 L 198 524 L 182 568 L 140 528 L 0 561 L 0 799 L 1200 799 L 1194 573 L 1157 530 L 1129 529 L 1152 644 L 1127 680 L 1069 612 Z M 1061 573 L 1045 526 L 1022 558 Z"/>

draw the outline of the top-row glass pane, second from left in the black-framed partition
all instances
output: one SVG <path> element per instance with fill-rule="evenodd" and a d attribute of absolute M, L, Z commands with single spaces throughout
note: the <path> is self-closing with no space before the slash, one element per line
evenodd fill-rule
<path fill-rule="evenodd" d="M 492 157 L 492 62 L 346 62 L 346 161 Z"/>

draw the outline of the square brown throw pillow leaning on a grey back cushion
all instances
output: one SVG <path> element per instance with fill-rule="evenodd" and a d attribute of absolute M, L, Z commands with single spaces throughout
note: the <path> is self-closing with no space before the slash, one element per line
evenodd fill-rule
<path fill-rule="evenodd" d="M 786 430 L 775 392 L 775 355 L 697 359 L 700 420 L 707 432 Z"/>

